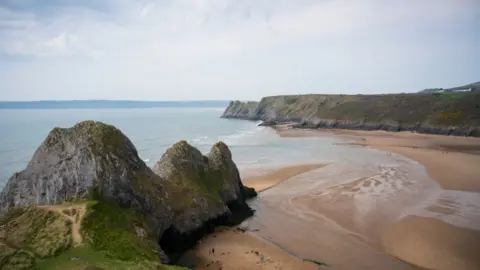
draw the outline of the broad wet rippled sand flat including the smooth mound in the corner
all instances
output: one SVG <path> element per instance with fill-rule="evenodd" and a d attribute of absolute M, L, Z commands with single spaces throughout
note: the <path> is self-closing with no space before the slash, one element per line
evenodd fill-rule
<path fill-rule="evenodd" d="M 478 193 L 442 189 L 401 155 L 349 148 L 261 192 L 244 225 L 331 269 L 478 269 Z"/>

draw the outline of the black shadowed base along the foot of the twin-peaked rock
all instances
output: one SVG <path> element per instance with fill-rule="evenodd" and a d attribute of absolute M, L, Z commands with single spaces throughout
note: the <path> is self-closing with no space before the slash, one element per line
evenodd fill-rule
<path fill-rule="evenodd" d="M 204 236 L 215 231 L 217 226 L 235 226 L 254 214 L 254 210 L 246 203 L 234 201 L 227 204 L 230 213 L 220 215 L 205 222 L 200 228 L 188 233 L 181 233 L 174 226 L 162 235 L 160 248 L 167 254 L 169 262 L 174 264 L 184 252 L 193 248 Z"/>

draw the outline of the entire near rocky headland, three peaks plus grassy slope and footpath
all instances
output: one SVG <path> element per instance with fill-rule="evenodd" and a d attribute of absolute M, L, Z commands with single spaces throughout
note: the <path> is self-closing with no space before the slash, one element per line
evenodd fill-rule
<path fill-rule="evenodd" d="M 0 269 L 176 269 L 255 195 L 222 142 L 180 141 L 152 170 L 114 126 L 55 128 L 0 193 Z"/>

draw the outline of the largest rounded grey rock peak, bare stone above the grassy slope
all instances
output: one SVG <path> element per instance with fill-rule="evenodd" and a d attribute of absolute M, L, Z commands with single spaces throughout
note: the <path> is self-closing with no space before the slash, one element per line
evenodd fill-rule
<path fill-rule="evenodd" d="M 172 216 L 162 179 L 138 157 L 131 141 L 114 126 L 85 121 L 53 129 L 25 170 L 0 193 L 8 208 L 102 199 L 148 213 L 153 227 Z"/>

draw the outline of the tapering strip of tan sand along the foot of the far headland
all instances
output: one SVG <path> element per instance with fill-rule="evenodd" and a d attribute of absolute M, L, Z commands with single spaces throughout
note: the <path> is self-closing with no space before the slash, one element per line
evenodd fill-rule
<path fill-rule="evenodd" d="M 332 136 L 351 145 L 370 146 L 420 162 L 444 189 L 480 192 L 480 138 L 425 135 L 411 132 L 300 130 L 278 128 L 280 136 Z"/>

